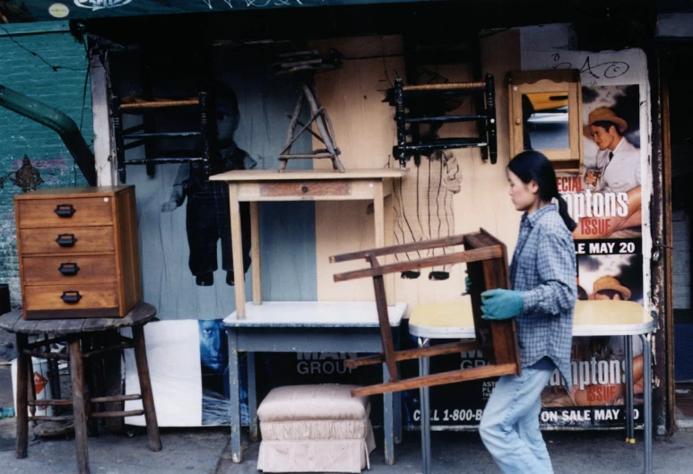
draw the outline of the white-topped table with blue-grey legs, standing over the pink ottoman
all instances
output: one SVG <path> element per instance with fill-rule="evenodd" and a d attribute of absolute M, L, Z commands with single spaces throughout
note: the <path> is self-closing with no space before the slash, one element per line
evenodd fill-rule
<path fill-rule="evenodd" d="M 234 312 L 224 319 L 229 332 L 231 456 L 242 461 L 240 448 L 240 393 L 238 352 L 247 352 L 247 394 L 250 435 L 257 439 L 257 400 L 255 352 L 361 352 L 383 349 L 375 302 L 282 301 L 261 306 L 248 304 L 246 317 Z M 394 340 L 399 340 L 399 326 L 405 303 L 388 306 Z M 383 365 L 383 380 L 389 379 Z M 383 399 L 385 463 L 394 464 L 394 443 L 402 437 L 400 394 L 385 393 Z"/>

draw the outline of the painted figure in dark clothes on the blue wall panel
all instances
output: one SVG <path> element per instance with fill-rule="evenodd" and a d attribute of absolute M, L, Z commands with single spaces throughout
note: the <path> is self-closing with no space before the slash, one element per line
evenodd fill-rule
<path fill-rule="evenodd" d="M 212 161 L 212 174 L 233 169 L 256 168 L 257 162 L 247 151 L 238 148 L 234 134 L 240 114 L 236 93 L 222 82 L 216 83 L 217 157 Z M 226 271 L 226 283 L 234 285 L 231 255 L 231 228 L 229 185 L 205 179 L 201 162 L 184 163 L 178 168 L 169 201 L 161 206 L 162 212 L 175 211 L 187 199 L 186 232 L 190 250 L 188 266 L 199 286 L 214 283 L 218 268 L 217 242 L 221 239 L 221 268 Z M 250 208 L 240 204 L 243 240 L 243 269 L 250 267 Z"/>

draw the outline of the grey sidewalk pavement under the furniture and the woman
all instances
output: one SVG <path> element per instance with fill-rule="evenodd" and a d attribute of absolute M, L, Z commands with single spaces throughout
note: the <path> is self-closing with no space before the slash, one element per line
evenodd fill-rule
<path fill-rule="evenodd" d="M 34 439 L 29 456 L 14 457 L 16 418 L 0 420 L 0 472 L 3 474 L 74 474 L 74 440 Z M 100 435 L 89 438 L 93 474 L 256 474 L 259 443 L 244 439 L 244 459 L 230 461 L 229 429 L 161 428 L 163 450 L 151 452 L 146 432 L 130 427 L 129 435 Z M 382 432 L 371 454 L 371 469 L 364 474 L 420 473 L 420 434 L 405 432 L 395 446 L 394 466 L 386 466 Z M 545 432 L 556 474 L 633 474 L 643 472 L 642 432 L 637 444 L 626 444 L 623 431 Z M 500 470 L 490 459 L 476 432 L 434 432 L 432 434 L 434 474 L 494 474 Z M 654 441 L 654 473 L 693 472 L 693 432 L 681 431 L 665 440 Z"/>

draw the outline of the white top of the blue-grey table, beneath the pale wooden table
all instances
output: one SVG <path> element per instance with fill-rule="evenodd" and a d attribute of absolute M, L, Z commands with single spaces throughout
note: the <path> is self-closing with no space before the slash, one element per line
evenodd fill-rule
<path fill-rule="evenodd" d="M 406 303 L 387 306 L 390 326 L 402 323 Z M 236 312 L 224 319 L 229 327 L 247 328 L 376 328 L 375 302 L 368 301 L 264 301 L 262 305 L 246 304 L 246 319 L 238 320 Z"/>

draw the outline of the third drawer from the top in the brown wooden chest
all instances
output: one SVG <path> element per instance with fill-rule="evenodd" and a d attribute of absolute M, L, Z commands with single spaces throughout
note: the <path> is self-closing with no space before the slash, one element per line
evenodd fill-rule
<path fill-rule="evenodd" d="M 102 283 L 116 281 L 115 255 L 65 255 L 22 258 L 23 282 L 27 285 Z"/>

